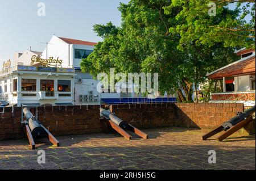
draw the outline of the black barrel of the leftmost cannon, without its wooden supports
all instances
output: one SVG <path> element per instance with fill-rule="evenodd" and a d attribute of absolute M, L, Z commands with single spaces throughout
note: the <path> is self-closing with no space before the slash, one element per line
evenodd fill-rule
<path fill-rule="evenodd" d="M 38 120 L 35 119 L 35 117 L 30 112 L 29 108 L 25 107 L 23 108 L 24 117 L 28 120 L 28 127 L 30 127 L 31 134 L 33 136 L 42 136 L 46 134 L 46 131 L 44 128 L 41 127 Z"/>

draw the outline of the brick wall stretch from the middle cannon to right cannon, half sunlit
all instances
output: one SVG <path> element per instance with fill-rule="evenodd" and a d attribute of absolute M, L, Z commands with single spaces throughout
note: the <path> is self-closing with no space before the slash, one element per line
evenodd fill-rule
<path fill-rule="evenodd" d="M 243 104 L 159 103 L 112 105 L 118 117 L 141 128 L 192 127 L 211 129 L 243 112 Z"/>

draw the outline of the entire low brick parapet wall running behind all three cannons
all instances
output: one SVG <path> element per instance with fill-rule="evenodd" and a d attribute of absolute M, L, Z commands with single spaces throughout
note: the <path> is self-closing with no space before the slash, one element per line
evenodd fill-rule
<path fill-rule="evenodd" d="M 210 129 L 242 112 L 236 103 L 118 104 L 110 110 L 138 128 L 193 127 Z M 0 140 L 24 137 L 21 107 L 0 107 Z M 100 106 L 38 107 L 38 118 L 55 136 L 104 131 Z"/>

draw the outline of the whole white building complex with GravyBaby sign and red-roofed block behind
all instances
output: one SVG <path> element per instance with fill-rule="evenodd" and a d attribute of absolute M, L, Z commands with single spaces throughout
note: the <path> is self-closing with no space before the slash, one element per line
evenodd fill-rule
<path fill-rule="evenodd" d="M 8 100 L 10 104 L 20 106 L 33 103 L 100 104 L 104 99 L 108 99 L 109 103 L 136 102 L 133 98 L 139 101 L 139 95 L 134 91 L 100 93 L 97 91 L 100 81 L 94 80 L 89 73 L 81 72 L 82 58 L 93 52 L 94 45 L 97 43 L 53 35 L 43 52 L 31 49 L 24 53 L 16 52 L 14 67 L 0 72 L 0 102 Z M 26 84 L 30 90 L 25 89 Z M 68 91 L 61 89 L 67 86 Z M 122 88 L 126 89 L 126 85 Z M 129 85 L 127 89 L 134 90 L 134 85 Z M 167 96 L 165 98 L 168 99 Z M 143 98 L 140 101 L 150 100 Z"/>

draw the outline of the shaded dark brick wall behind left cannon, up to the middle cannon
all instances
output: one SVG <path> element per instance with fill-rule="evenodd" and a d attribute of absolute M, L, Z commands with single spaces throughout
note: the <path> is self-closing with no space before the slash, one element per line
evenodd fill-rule
<path fill-rule="evenodd" d="M 38 119 L 55 136 L 102 132 L 100 106 L 38 107 Z M 23 138 L 21 108 L 0 109 L 0 140 Z"/>

